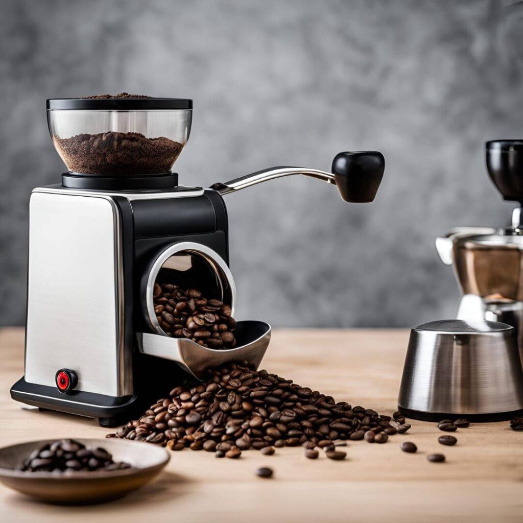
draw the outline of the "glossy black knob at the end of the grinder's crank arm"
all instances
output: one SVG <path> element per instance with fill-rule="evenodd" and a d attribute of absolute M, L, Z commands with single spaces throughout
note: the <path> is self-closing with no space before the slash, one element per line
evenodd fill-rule
<path fill-rule="evenodd" d="M 342 198 L 348 202 L 368 203 L 376 196 L 385 158 L 378 151 L 338 153 L 332 162 L 332 173 Z"/>

